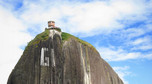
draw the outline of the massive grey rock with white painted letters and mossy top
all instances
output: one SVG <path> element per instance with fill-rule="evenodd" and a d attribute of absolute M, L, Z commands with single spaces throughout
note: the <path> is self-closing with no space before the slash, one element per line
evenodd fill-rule
<path fill-rule="evenodd" d="M 45 30 L 32 40 L 7 84 L 123 84 L 90 44 Z"/>

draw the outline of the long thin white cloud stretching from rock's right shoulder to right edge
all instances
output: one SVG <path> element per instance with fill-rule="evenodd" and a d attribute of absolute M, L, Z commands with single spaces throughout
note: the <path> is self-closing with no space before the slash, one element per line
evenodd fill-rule
<path fill-rule="evenodd" d="M 151 52 L 134 52 L 134 51 L 128 51 L 124 50 L 122 48 L 116 48 L 114 46 L 109 47 L 100 47 L 97 46 L 97 50 L 99 51 L 102 58 L 104 58 L 107 61 L 124 61 L 129 59 L 152 59 L 152 53 Z"/>

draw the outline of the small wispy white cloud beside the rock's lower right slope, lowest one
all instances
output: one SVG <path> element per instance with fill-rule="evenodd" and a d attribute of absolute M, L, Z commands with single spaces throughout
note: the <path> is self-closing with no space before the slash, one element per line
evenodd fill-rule
<path fill-rule="evenodd" d="M 129 82 L 125 79 L 126 76 L 129 76 L 131 74 L 131 72 L 129 72 L 129 66 L 124 66 L 124 67 L 112 67 L 117 74 L 119 75 L 119 77 L 122 79 L 122 81 L 124 82 L 124 84 L 129 84 Z"/>

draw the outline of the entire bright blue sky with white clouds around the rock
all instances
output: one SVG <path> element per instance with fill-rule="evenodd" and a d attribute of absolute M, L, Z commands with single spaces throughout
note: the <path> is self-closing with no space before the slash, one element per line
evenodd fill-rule
<path fill-rule="evenodd" d="M 96 47 L 125 84 L 151 84 L 152 0 L 0 0 L 0 84 L 48 20 Z"/>

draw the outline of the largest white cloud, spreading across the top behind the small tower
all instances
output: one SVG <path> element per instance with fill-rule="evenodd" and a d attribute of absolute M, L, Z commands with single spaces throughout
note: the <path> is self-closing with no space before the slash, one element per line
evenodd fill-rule
<path fill-rule="evenodd" d="M 147 13 L 145 2 L 138 0 L 87 3 L 68 1 L 31 3 L 24 1 L 22 10 L 20 18 L 27 24 L 39 24 L 44 29 L 46 21 L 52 18 L 63 31 L 81 37 L 110 33 L 123 28 L 125 24 L 128 25 L 139 20 L 139 17 L 140 20 L 145 19 Z"/>

